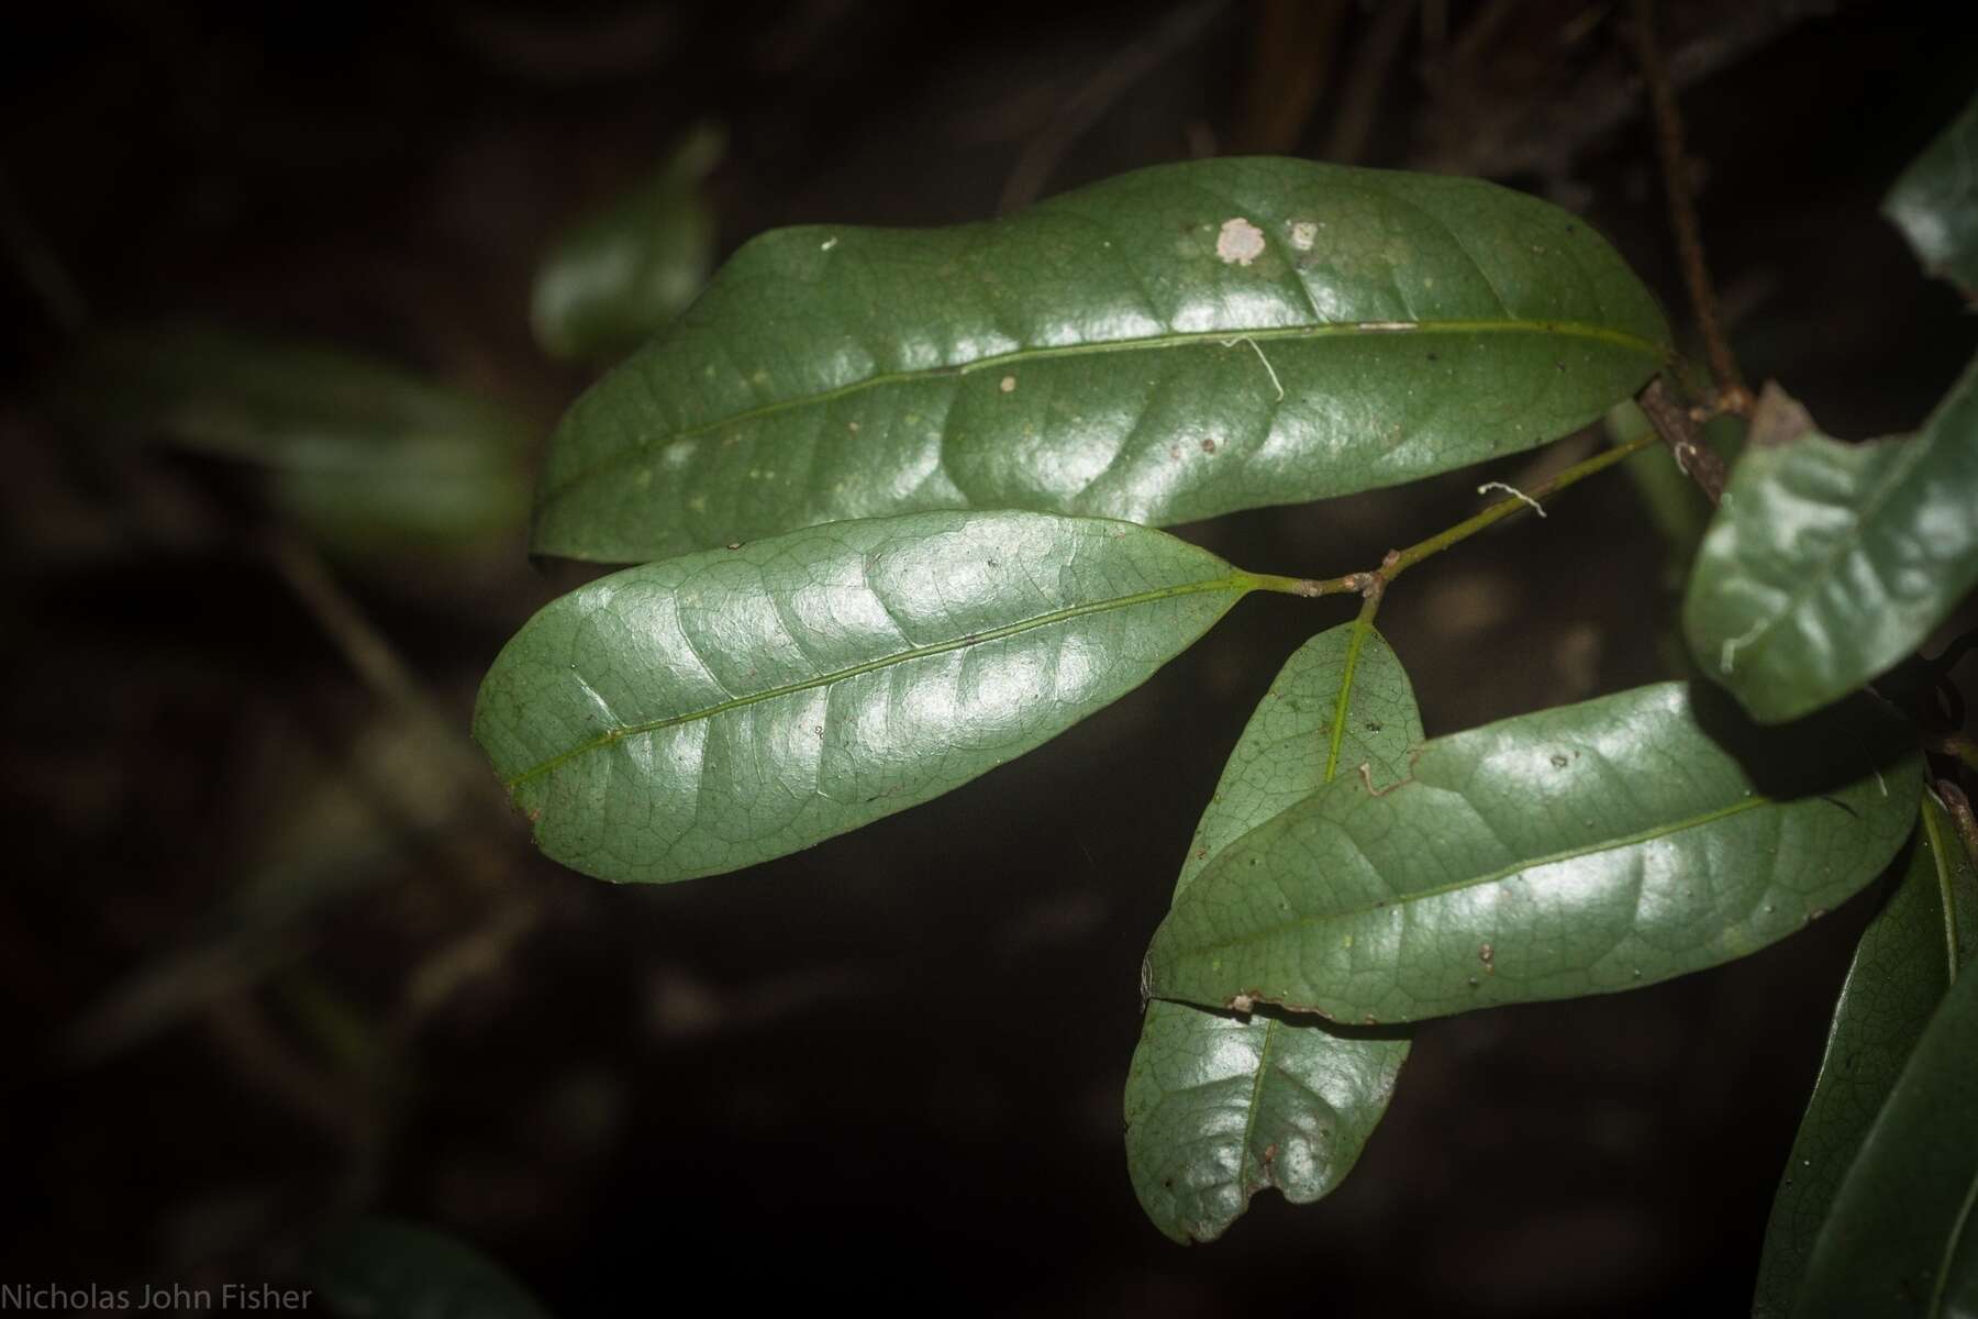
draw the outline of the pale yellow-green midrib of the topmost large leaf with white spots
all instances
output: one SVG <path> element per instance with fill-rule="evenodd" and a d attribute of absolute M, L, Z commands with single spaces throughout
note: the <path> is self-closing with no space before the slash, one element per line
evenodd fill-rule
<path fill-rule="evenodd" d="M 1347 336 L 1377 336 L 1377 334 L 1559 334 L 1563 338 L 1586 338 L 1596 342 L 1614 344 L 1630 352 L 1640 352 L 1656 362 L 1667 360 L 1669 352 L 1636 334 L 1624 330 L 1614 330 L 1604 324 L 1592 324 L 1586 320 L 1339 320 L 1331 324 L 1300 324 L 1300 326 L 1264 326 L 1264 328 L 1230 328 L 1230 330 L 1187 330 L 1187 332 L 1167 332 L 1149 334 L 1143 338 L 1118 338 L 1092 344 L 1050 344 L 1040 348 L 1013 348 L 1011 352 L 993 354 L 987 358 L 975 358 L 973 362 L 959 362 L 951 366 L 928 366 L 910 372 L 880 372 L 864 380 L 854 380 L 835 390 L 819 390 L 815 394 L 799 394 L 787 399 L 775 399 L 773 403 L 760 403 L 756 407 L 746 407 L 738 413 L 726 417 L 716 417 L 712 421 L 702 421 L 698 425 L 688 425 L 682 429 L 669 429 L 655 435 L 639 435 L 631 445 L 619 449 L 617 453 L 605 455 L 589 467 L 582 467 L 572 473 L 566 481 L 542 492 L 538 506 L 552 504 L 570 490 L 578 488 L 591 477 L 611 471 L 623 463 L 629 463 L 643 453 L 657 449 L 661 445 L 673 445 L 686 439 L 698 439 L 710 435 L 730 425 L 746 425 L 750 421 L 762 421 L 764 417 L 773 417 L 783 411 L 795 411 L 801 407 L 821 407 L 825 403 L 835 403 L 843 397 L 854 394 L 864 394 L 866 390 L 880 390 L 888 386 L 916 384 L 922 380 L 940 380 L 945 376 L 971 376 L 975 372 L 987 372 L 1007 366 L 1023 366 L 1027 362 L 1044 362 L 1050 358 L 1076 358 L 1076 356 L 1098 356 L 1108 352 L 1163 352 L 1169 348 L 1191 348 L 1191 346 L 1236 346 L 1242 342 L 1270 344 L 1290 338 L 1347 338 Z M 625 370 L 635 370 L 627 364 Z"/>

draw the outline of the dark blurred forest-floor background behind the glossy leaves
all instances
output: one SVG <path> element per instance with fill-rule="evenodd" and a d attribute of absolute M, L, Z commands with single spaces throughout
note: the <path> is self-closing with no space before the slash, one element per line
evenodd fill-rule
<path fill-rule="evenodd" d="M 1262 1194 L 1197 1248 L 1135 1206 L 1141 949 L 1250 708 L 1347 605 L 1254 599 L 963 791 L 621 890 L 534 856 L 459 771 L 481 670 L 582 573 L 534 572 L 522 528 L 465 560 L 332 562 L 437 706 L 427 736 L 271 564 L 251 481 L 40 405 L 71 340 L 24 275 L 36 241 L 93 324 L 194 310 L 346 344 L 544 435 L 591 372 L 534 348 L 534 263 L 696 119 L 730 132 L 724 251 L 1282 152 L 1549 196 L 1683 318 L 1624 6 L 1410 8 L 1232 0 L 1169 38 L 1175 10 L 1145 2 L 12 8 L 0 1281 L 281 1279 L 380 1210 L 562 1315 L 1747 1307 L 1863 902 L 1715 973 L 1424 1024 L 1315 1206 Z M 1978 83 L 1952 8 L 1663 6 L 1745 366 L 1838 435 L 1915 425 L 1974 340 L 1875 214 Z M 1592 443 L 1181 530 L 1266 572 L 1349 572 L 1474 510 L 1478 481 Z M 1430 734 L 1669 672 L 1634 486 L 1551 514 L 1385 605 Z"/>

